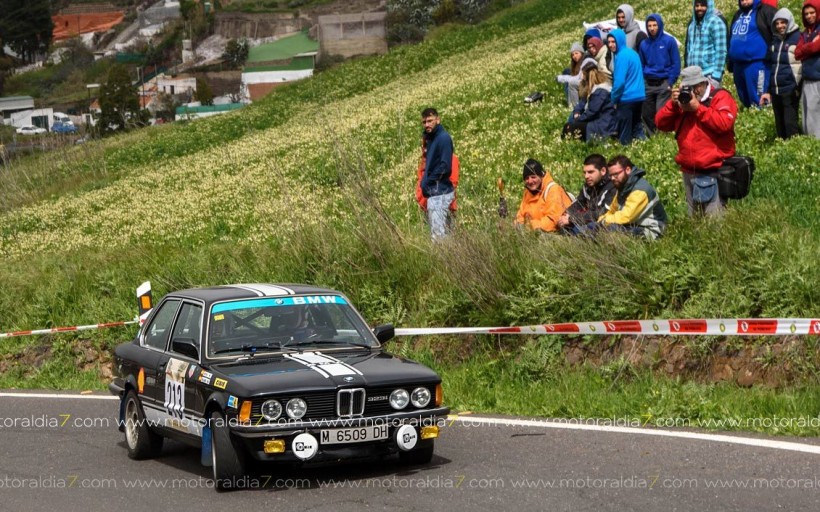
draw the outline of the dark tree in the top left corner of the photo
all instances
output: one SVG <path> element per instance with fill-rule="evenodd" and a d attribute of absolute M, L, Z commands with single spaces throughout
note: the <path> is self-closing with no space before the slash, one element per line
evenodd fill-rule
<path fill-rule="evenodd" d="M 3 0 L 0 47 L 8 44 L 26 62 L 33 62 L 51 44 L 54 23 L 49 0 Z"/>

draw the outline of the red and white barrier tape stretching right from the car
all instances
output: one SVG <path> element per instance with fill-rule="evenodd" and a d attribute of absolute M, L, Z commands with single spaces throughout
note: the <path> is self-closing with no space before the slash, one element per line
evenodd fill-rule
<path fill-rule="evenodd" d="M 525 325 L 522 327 L 431 327 L 396 329 L 396 336 L 429 334 L 646 334 L 646 335 L 720 335 L 782 336 L 820 335 L 820 320 L 811 318 L 718 318 L 699 320 L 612 320 L 565 324 Z"/>

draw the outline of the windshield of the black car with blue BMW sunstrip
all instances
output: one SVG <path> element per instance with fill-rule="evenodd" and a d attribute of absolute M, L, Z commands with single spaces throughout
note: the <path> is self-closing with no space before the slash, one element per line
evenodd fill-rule
<path fill-rule="evenodd" d="M 208 324 L 208 357 L 377 344 L 358 313 L 339 295 L 220 302 L 211 307 Z"/>

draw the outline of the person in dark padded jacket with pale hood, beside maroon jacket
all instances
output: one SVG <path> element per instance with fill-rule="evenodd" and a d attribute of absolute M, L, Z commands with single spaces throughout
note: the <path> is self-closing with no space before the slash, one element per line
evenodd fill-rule
<path fill-rule="evenodd" d="M 771 103 L 777 136 L 788 139 L 800 134 L 800 79 L 802 66 L 794 56 L 800 40 L 800 28 L 791 11 L 780 9 L 774 15 L 774 42 L 771 47 L 772 68 L 769 92 L 760 97 L 762 104 Z"/>

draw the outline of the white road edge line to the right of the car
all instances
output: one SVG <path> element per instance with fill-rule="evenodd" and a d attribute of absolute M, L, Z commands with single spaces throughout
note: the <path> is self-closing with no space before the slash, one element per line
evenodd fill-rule
<path fill-rule="evenodd" d="M 757 446 L 761 448 L 773 448 L 776 450 L 789 450 L 803 453 L 820 454 L 820 446 L 811 444 L 795 443 L 790 441 L 773 441 L 770 439 L 755 439 L 750 437 L 735 437 L 723 434 L 705 434 L 700 432 L 681 432 L 675 430 L 656 430 L 649 428 L 634 427 L 611 427 L 604 425 L 575 425 L 547 420 L 518 420 L 505 418 L 484 418 L 480 416 L 459 416 L 456 421 L 467 425 L 498 425 L 515 427 L 535 427 L 552 428 L 564 430 L 589 430 L 593 432 L 610 432 L 618 434 L 631 434 L 657 437 L 678 437 L 682 439 L 695 439 L 699 441 L 712 441 L 718 443 L 742 444 L 746 446 Z"/>

